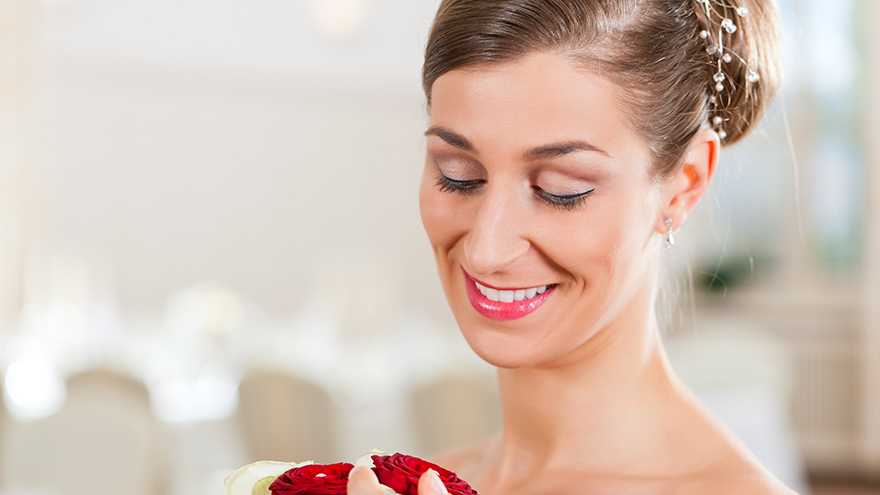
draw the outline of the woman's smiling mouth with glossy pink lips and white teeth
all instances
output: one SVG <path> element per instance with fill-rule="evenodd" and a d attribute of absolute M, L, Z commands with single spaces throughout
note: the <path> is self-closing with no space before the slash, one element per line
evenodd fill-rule
<path fill-rule="evenodd" d="M 529 315 L 555 291 L 555 285 L 500 289 L 477 282 L 464 270 L 465 288 L 471 306 L 486 318 L 509 321 Z"/>

